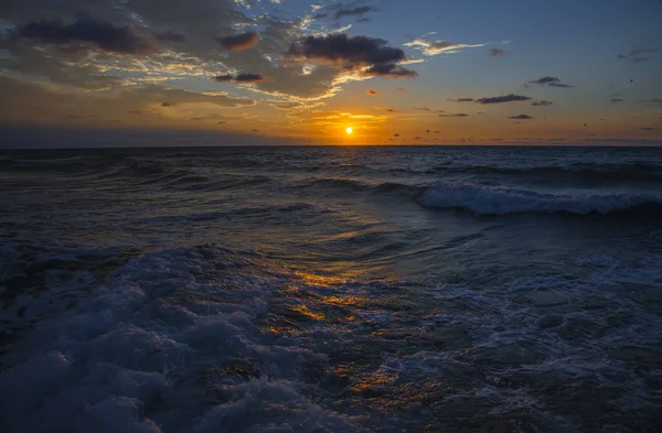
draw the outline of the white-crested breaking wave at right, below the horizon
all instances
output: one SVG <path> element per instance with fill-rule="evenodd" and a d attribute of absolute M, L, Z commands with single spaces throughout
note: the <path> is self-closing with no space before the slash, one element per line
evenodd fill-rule
<path fill-rule="evenodd" d="M 662 194 L 586 192 L 544 194 L 525 190 L 438 182 L 420 197 L 426 207 L 461 208 L 478 215 L 519 213 L 609 214 L 639 206 L 662 208 Z"/>

